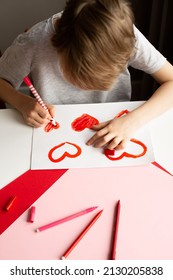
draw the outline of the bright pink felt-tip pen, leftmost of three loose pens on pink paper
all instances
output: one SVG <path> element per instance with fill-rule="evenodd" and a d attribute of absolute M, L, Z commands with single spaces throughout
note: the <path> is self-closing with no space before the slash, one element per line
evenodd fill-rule
<path fill-rule="evenodd" d="M 39 227 L 36 231 L 37 231 L 37 232 L 40 232 L 40 231 L 43 231 L 43 230 L 52 228 L 52 227 L 54 227 L 54 226 L 60 225 L 60 224 L 62 224 L 62 223 L 68 222 L 68 221 L 70 221 L 70 220 L 72 220 L 72 219 L 75 219 L 75 218 L 80 217 L 80 216 L 82 216 L 82 215 L 88 214 L 89 212 L 95 210 L 97 207 L 98 207 L 98 206 L 87 208 L 87 209 L 85 209 L 85 210 L 82 210 L 82 211 L 80 211 L 80 212 L 78 212 L 78 213 L 75 213 L 75 214 L 72 214 L 72 215 L 70 215 L 70 216 L 67 216 L 67 217 L 65 217 L 65 218 L 63 218 L 63 219 L 60 219 L 60 220 L 58 220 L 58 221 L 55 221 L 55 222 L 52 222 L 52 223 L 47 224 L 47 225 L 45 225 L 45 226 Z"/>

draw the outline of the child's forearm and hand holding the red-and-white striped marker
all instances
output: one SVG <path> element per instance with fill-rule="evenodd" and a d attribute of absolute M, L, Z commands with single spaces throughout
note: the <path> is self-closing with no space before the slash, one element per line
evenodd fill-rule
<path fill-rule="evenodd" d="M 0 79 L 0 99 L 16 108 L 25 122 L 33 127 L 45 125 L 54 116 L 54 107 L 47 105 L 49 113 L 40 106 L 35 98 L 17 91 L 10 83 Z"/>

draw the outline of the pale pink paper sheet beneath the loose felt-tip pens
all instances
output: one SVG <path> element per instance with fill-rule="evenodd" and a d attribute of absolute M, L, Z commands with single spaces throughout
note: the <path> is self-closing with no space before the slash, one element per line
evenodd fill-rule
<path fill-rule="evenodd" d="M 173 177 L 154 165 L 68 170 L 0 237 L 0 259 L 59 260 L 94 215 L 101 217 L 68 256 L 69 260 L 110 258 L 115 205 L 121 213 L 117 260 L 173 259 Z M 87 207 L 98 209 L 36 233 L 36 228 Z"/>

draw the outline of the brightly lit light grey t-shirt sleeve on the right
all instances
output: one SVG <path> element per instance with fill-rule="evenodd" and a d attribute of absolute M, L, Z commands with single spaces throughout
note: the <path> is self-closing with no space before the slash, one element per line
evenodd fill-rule
<path fill-rule="evenodd" d="M 133 68 L 152 74 L 165 64 L 166 58 L 134 26 L 136 37 L 135 52 L 129 61 Z"/>

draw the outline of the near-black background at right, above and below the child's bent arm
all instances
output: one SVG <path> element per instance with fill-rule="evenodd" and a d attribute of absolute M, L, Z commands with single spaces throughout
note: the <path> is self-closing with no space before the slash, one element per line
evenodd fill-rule
<path fill-rule="evenodd" d="M 135 24 L 145 37 L 173 64 L 173 0 L 131 0 Z M 147 100 L 156 82 L 142 71 L 130 69 L 132 100 Z"/>

